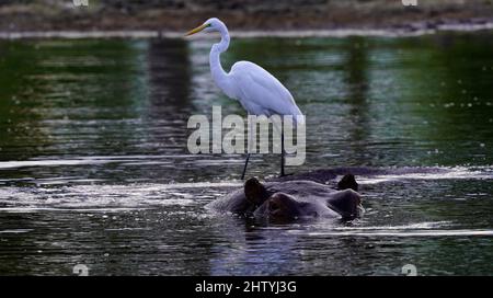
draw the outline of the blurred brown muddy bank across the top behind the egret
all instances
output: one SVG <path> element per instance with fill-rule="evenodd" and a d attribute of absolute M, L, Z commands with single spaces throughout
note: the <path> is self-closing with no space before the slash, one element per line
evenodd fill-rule
<path fill-rule="evenodd" d="M 397 30 L 423 31 L 444 26 L 493 23 L 493 1 L 399 0 L 71 0 L 2 1 L 0 32 L 183 32 L 210 16 L 236 31 Z"/>

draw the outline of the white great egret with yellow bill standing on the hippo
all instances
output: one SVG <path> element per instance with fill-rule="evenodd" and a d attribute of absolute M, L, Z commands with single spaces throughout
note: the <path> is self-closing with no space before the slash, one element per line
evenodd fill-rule
<path fill-rule="evenodd" d="M 303 123 L 303 115 L 296 105 L 291 93 L 268 71 L 262 67 L 250 61 L 238 61 L 231 67 L 228 73 L 222 69 L 220 62 L 220 54 L 226 51 L 229 46 L 229 33 L 225 23 L 217 18 L 211 18 L 205 21 L 204 24 L 191 30 L 185 36 L 204 32 L 219 32 L 221 34 L 221 42 L 214 44 L 210 49 L 209 65 L 214 81 L 217 87 L 222 90 L 231 99 L 238 100 L 250 115 L 291 115 L 297 123 Z M 279 127 L 277 127 L 279 128 Z M 250 131 L 253 131 L 252 122 Z M 285 152 L 284 152 L 284 134 L 280 127 L 280 175 L 285 175 Z M 252 134 L 249 134 L 249 138 Z M 249 139 L 249 145 L 252 144 Z M 249 148 L 250 149 L 250 148 Z M 249 150 L 243 168 L 241 179 L 244 179 L 246 165 L 250 159 Z"/>

